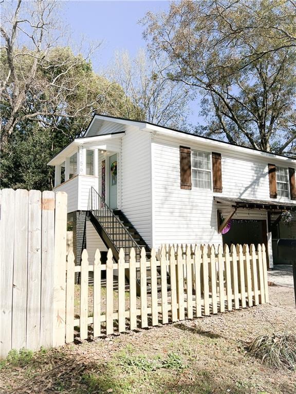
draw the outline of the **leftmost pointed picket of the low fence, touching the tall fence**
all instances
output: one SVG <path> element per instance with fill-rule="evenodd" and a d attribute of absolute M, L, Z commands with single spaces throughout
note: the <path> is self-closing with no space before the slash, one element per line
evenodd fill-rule
<path fill-rule="evenodd" d="M 66 342 L 74 340 L 75 257 L 70 249 L 67 257 Z"/>

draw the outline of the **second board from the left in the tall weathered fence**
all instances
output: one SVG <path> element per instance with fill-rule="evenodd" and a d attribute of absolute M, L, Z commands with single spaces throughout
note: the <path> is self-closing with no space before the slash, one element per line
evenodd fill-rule
<path fill-rule="evenodd" d="M 14 266 L 12 288 L 12 344 L 14 349 L 26 347 L 27 269 L 28 269 L 28 202 L 29 192 L 15 191 Z M 13 241 L 12 241 L 13 244 Z M 52 303 L 51 303 L 52 304 Z M 51 327 L 49 327 L 51 328 Z"/>

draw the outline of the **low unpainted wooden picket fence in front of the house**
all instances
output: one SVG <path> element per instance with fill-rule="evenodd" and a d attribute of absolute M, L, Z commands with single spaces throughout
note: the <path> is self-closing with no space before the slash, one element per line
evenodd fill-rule
<path fill-rule="evenodd" d="M 157 260 L 156 256 L 159 257 Z M 66 279 L 66 342 L 75 336 L 79 327 L 81 339 L 89 335 L 123 332 L 148 326 L 192 319 L 210 313 L 231 311 L 268 302 L 268 283 L 264 245 L 228 246 L 223 250 L 214 246 L 198 246 L 186 250 L 162 247 L 152 250 L 147 260 L 142 249 L 136 261 L 131 249 L 130 261 L 125 263 L 124 252 L 115 264 L 111 250 L 102 265 L 96 251 L 94 265 L 88 264 L 84 250 L 81 266 L 75 266 L 70 251 Z M 89 286 L 88 275 L 93 272 L 94 285 Z M 75 272 L 81 273 L 79 310 L 75 312 Z M 114 276 L 118 275 L 118 288 L 114 291 Z M 169 273 L 169 275 L 168 275 Z M 126 291 L 125 277 L 130 278 Z M 102 278 L 106 287 L 102 287 Z M 137 297 L 139 281 L 141 295 Z M 75 302 L 76 301 L 76 302 Z"/>

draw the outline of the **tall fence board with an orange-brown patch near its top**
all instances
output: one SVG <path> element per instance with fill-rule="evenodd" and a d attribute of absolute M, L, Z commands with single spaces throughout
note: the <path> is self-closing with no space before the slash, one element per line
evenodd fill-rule
<path fill-rule="evenodd" d="M 54 192 L 42 193 L 42 270 L 40 345 L 52 346 Z M 46 286 L 43 284 L 46 283 Z"/>

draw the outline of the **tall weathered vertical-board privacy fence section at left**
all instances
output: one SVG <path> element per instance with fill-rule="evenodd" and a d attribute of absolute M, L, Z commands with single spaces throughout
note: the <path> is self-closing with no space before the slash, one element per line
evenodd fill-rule
<path fill-rule="evenodd" d="M 3 189 L 0 204 L 0 357 L 5 357 L 10 349 L 57 344 L 65 320 L 67 195 Z"/>

